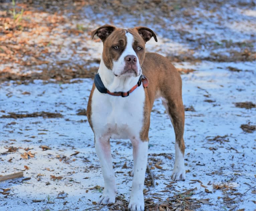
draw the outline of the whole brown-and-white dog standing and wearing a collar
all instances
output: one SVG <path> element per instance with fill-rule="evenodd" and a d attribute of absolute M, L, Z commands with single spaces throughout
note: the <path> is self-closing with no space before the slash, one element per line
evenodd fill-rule
<path fill-rule="evenodd" d="M 145 52 L 145 43 L 151 37 L 157 42 L 151 29 L 104 25 L 92 32 L 92 39 L 95 35 L 103 41 L 103 53 L 87 116 L 95 135 L 95 149 L 105 183 L 99 204 L 115 203 L 116 197 L 109 140 L 130 139 L 134 175 L 128 207 L 131 211 L 141 211 L 144 210 L 150 112 L 156 98 L 162 100 L 175 131 L 172 179 L 185 180 L 181 78 L 168 59 Z"/>

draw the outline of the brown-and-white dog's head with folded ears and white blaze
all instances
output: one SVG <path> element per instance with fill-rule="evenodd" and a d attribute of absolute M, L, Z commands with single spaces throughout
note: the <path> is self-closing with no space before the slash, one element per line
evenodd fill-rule
<path fill-rule="evenodd" d="M 103 62 L 117 77 L 141 75 L 145 43 L 151 37 L 157 42 L 155 33 L 143 26 L 122 29 L 104 25 L 92 32 L 92 39 L 96 34 L 103 41 Z"/>

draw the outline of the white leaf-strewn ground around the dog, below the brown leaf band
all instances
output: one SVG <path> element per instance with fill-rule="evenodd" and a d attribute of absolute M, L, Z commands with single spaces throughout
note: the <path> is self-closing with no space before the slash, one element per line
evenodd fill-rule
<path fill-rule="evenodd" d="M 229 66 L 242 71 L 231 72 L 227 69 Z M 202 210 L 230 209 L 228 205 L 235 205 L 235 210 L 254 210 L 255 132 L 245 133 L 240 125 L 248 122 L 255 125 L 255 108 L 237 108 L 234 103 L 255 102 L 255 62 L 205 62 L 193 69 L 197 71 L 182 75 L 184 105 L 195 108 L 195 111 L 185 112 L 186 181 L 166 187 L 171 182 L 175 139 L 170 120 L 157 100 L 151 114 L 149 162 L 154 166 L 161 160 L 159 165 L 163 168 L 152 170 L 158 185 L 147 192 L 145 198 L 158 193 L 157 196 L 165 200 L 183 189 L 197 188 L 193 198 L 209 199 L 207 204 L 202 204 Z M 104 183 L 94 149 L 93 132 L 87 117 L 77 115 L 79 109 L 87 106 L 92 83 L 91 79 L 84 79 L 81 83 L 71 84 L 43 84 L 42 81 L 29 85 L 2 84 L 1 116 L 8 115 L 8 112 L 45 111 L 61 113 L 63 117 L 0 118 L 0 153 L 11 146 L 18 148 L 16 152 L 1 155 L 1 174 L 22 171 L 27 166 L 29 169 L 25 169 L 24 176 L 31 177 L 25 181 L 21 178 L 0 183 L 2 189 L 10 188 L 10 194 L 0 198 L 0 210 L 99 208 L 93 202 L 100 197 Z M 223 138 L 214 140 L 216 136 Z M 51 149 L 42 151 L 41 145 Z M 114 172 L 119 172 L 115 174 L 118 195 L 123 194 L 129 200 L 131 144 L 129 140 L 112 140 L 111 146 Z M 27 147 L 35 156 L 23 159 L 21 154 Z M 72 155 L 76 151 L 79 153 Z M 161 153 L 166 153 L 170 159 Z M 127 168 L 122 168 L 125 163 Z M 50 175 L 61 179 L 53 180 Z M 234 189 L 227 193 L 214 189 L 214 185 L 222 184 Z M 93 188 L 96 185 L 101 188 Z M 212 193 L 205 192 L 204 186 Z M 160 192 L 163 190 L 169 192 Z M 62 191 L 67 197 L 57 199 Z M 50 203 L 47 203 L 47 196 Z M 233 203 L 226 200 L 227 197 L 232 198 Z M 44 201 L 34 203 L 34 199 Z"/>

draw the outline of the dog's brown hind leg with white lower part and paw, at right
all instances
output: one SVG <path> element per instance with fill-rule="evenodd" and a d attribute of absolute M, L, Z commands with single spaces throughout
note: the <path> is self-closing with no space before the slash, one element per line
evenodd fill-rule
<path fill-rule="evenodd" d="M 180 98 L 181 99 L 181 98 Z M 182 100 L 171 101 L 162 98 L 162 103 L 168 113 L 175 132 L 175 163 L 172 180 L 185 180 L 184 151 L 184 106 Z"/>

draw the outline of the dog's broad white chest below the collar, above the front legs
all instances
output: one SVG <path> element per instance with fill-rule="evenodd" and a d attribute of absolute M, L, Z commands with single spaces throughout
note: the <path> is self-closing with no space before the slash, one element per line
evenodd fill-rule
<path fill-rule="evenodd" d="M 139 138 L 143 126 L 145 93 L 138 87 L 128 97 L 102 94 L 92 97 L 92 124 L 96 135 L 110 138 Z"/>

